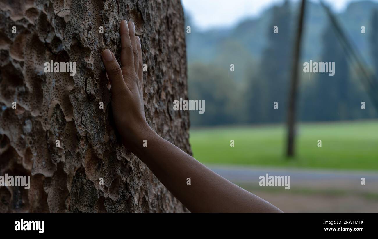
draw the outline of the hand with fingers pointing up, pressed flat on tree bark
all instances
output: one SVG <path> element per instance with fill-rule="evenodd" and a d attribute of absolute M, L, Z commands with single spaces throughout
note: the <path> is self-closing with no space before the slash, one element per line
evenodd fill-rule
<path fill-rule="evenodd" d="M 121 22 L 121 64 L 110 50 L 102 52 L 102 61 L 112 85 L 112 110 L 115 124 L 126 147 L 138 144 L 143 132 L 150 127 L 144 115 L 142 47 L 135 36 L 133 22 Z"/>

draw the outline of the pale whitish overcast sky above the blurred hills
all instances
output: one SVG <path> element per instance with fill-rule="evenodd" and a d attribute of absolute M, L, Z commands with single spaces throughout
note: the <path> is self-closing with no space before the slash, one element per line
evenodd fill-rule
<path fill-rule="evenodd" d="M 373 0 L 378 2 L 378 0 Z M 257 17 L 271 5 L 283 0 L 181 0 L 184 11 L 189 12 L 195 25 L 201 29 L 233 26 L 247 17 Z M 318 0 L 311 0 L 318 2 Z M 324 0 L 335 11 L 344 10 L 356 0 Z"/>

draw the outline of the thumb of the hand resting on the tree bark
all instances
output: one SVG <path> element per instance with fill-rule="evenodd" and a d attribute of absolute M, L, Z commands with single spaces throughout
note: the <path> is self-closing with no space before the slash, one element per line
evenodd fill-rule
<path fill-rule="evenodd" d="M 102 51 L 102 62 L 104 62 L 106 73 L 112 85 L 112 94 L 121 95 L 125 93 L 124 90 L 128 90 L 128 88 L 124 82 L 121 67 L 119 67 L 116 57 L 110 50 Z"/>

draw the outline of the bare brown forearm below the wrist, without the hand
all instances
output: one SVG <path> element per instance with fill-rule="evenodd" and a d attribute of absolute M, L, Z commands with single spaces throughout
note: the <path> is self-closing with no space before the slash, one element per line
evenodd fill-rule
<path fill-rule="evenodd" d="M 281 212 L 206 168 L 152 129 L 138 138 L 140 143 L 133 146 L 133 153 L 191 212 Z M 143 147 L 143 140 L 147 140 L 147 147 Z"/>

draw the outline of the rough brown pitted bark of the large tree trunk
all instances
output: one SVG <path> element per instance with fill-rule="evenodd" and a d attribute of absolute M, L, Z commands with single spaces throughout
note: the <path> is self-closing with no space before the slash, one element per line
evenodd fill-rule
<path fill-rule="evenodd" d="M 186 211 L 117 140 L 101 61 L 106 48 L 119 59 L 119 23 L 134 21 L 147 122 L 191 154 L 189 113 L 173 110 L 187 98 L 180 0 L 2 0 L 0 9 L 0 175 L 31 176 L 28 190 L 0 187 L 0 212 Z M 76 75 L 45 73 L 51 60 L 76 62 Z"/>

